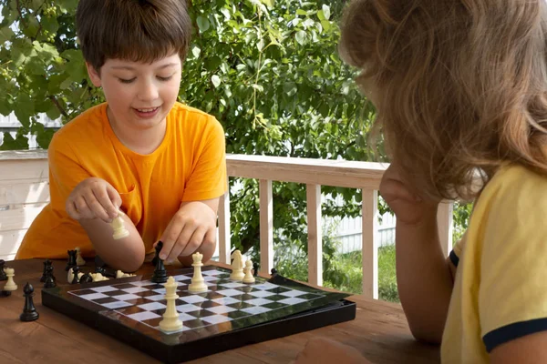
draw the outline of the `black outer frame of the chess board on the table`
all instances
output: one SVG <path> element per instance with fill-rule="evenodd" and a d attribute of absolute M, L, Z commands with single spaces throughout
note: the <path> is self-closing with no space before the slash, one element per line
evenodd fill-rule
<path fill-rule="evenodd" d="M 191 269 L 191 268 L 190 268 Z M 183 272 L 187 269 L 181 269 Z M 131 281 L 133 279 L 129 279 Z M 292 287 L 306 287 L 280 275 L 267 280 L 270 283 Z M 106 285 L 107 282 L 98 282 Z M 85 287 L 85 285 L 82 285 Z M 69 288 L 74 288 L 69 286 Z M 103 334 L 107 334 L 130 347 L 150 355 L 168 364 L 200 359 L 229 349 L 237 349 L 271 339 L 278 339 L 300 332 L 319 329 L 325 326 L 356 318 L 356 304 L 344 298 L 320 308 L 313 308 L 293 315 L 263 322 L 242 329 L 222 332 L 202 339 L 183 343 L 165 343 L 153 339 L 145 333 L 123 325 L 93 309 L 89 305 L 77 305 L 63 295 L 56 293 L 56 288 L 42 289 L 42 305 L 52 308 L 71 319 L 82 322 Z M 58 288 L 57 288 L 58 289 Z M 347 296 L 347 295 L 345 295 Z M 90 303 L 90 305 L 94 305 Z"/>

